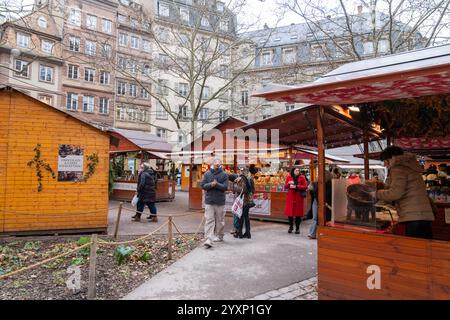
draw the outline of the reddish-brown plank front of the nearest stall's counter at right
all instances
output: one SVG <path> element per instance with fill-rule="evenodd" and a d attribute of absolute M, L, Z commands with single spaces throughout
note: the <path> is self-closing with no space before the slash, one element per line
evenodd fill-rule
<path fill-rule="evenodd" d="M 381 289 L 367 288 L 367 267 L 381 270 Z M 450 243 L 318 229 L 319 299 L 450 299 Z"/>

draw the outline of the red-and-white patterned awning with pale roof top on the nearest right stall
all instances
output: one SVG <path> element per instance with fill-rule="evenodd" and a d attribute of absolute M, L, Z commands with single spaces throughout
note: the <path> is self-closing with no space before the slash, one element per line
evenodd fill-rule
<path fill-rule="evenodd" d="M 289 103 L 358 104 L 447 93 L 450 45 L 345 64 L 295 88 L 262 90 L 252 96 Z"/>

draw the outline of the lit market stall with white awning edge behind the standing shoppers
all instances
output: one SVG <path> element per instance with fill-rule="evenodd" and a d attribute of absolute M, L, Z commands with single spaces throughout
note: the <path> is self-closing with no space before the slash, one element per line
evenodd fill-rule
<path fill-rule="evenodd" d="M 292 116 L 292 115 L 291 115 Z M 242 126 L 242 122 L 229 118 L 217 125 L 214 129 L 219 130 L 223 135 L 224 145 L 227 140 L 233 139 L 234 130 L 247 130 L 251 126 Z M 232 130 L 231 133 L 227 130 Z M 207 135 L 207 133 L 205 133 Z M 251 148 L 249 141 L 236 141 L 234 148 L 210 150 L 209 141 L 203 139 L 201 150 L 174 152 L 172 156 L 184 157 L 186 167 L 191 166 L 192 175 L 189 184 L 189 208 L 200 210 L 204 208 L 204 192 L 201 188 L 201 180 L 204 173 L 209 169 L 209 161 L 219 158 L 223 162 L 223 168 L 228 174 L 237 173 L 238 169 L 254 164 L 258 169 L 255 176 L 254 202 L 255 207 L 250 209 L 252 218 L 264 220 L 287 220 L 284 215 L 286 204 L 286 193 L 284 188 L 286 177 L 293 166 L 299 167 L 308 178 L 314 178 L 315 159 L 317 151 L 314 148 L 305 146 L 286 146 L 280 144 L 267 143 L 262 147 Z M 192 143 L 192 145 L 195 144 Z M 326 155 L 328 163 L 347 163 L 348 161 L 332 155 Z M 241 163 L 239 162 L 241 160 Z M 192 164 L 190 164 L 192 162 Z M 230 188 L 231 189 L 231 188 Z M 231 211 L 231 206 L 235 195 L 228 191 L 226 193 L 225 210 Z M 305 210 L 309 203 L 305 201 Z"/>

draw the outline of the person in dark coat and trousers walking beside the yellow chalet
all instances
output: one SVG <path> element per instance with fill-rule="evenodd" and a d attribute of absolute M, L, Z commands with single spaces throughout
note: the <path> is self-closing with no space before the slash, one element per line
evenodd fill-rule
<path fill-rule="evenodd" d="M 152 222 L 158 222 L 156 217 L 157 210 L 155 206 L 156 201 L 156 187 L 157 187 L 156 172 L 150 167 L 149 163 L 144 163 L 144 170 L 139 174 L 137 196 L 138 203 L 136 205 L 136 214 L 132 217 L 134 221 L 140 221 L 141 215 L 144 212 L 145 206 L 150 210 L 150 216 L 147 218 Z"/>

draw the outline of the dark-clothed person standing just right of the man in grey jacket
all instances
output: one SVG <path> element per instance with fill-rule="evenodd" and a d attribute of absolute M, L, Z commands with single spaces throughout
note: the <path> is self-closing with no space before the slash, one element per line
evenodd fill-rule
<path fill-rule="evenodd" d="M 248 238 L 251 239 L 250 233 L 250 208 L 255 206 L 253 202 L 253 193 L 255 192 L 255 183 L 252 176 L 247 172 L 247 170 L 242 170 L 240 176 L 235 180 L 235 192 L 237 195 L 242 193 L 243 195 L 243 207 L 242 215 L 238 222 L 238 230 L 234 234 L 235 238 Z M 242 234 L 242 229 L 245 224 L 245 233 Z"/>

